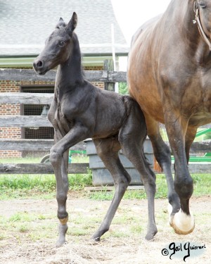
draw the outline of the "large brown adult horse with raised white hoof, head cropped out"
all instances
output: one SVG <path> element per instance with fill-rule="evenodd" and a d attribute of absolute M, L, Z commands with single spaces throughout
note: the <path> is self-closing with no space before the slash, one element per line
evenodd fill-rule
<path fill-rule="evenodd" d="M 197 128 L 211 122 L 210 39 L 211 1 L 172 0 L 163 15 L 134 34 L 129 52 L 129 93 L 143 110 L 155 157 L 167 177 L 170 225 L 178 234 L 194 229 L 188 158 Z M 165 123 L 174 154 L 174 181 L 158 122 Z"/>

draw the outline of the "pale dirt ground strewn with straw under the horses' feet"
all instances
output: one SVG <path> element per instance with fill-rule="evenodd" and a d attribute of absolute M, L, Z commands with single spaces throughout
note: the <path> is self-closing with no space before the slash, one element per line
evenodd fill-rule
<path fill-rule="evenodd" d="M 123 200 L 111 225 L 109 235 L 101 239 L 100 243 L 92 244 L 89 240 L 89 219 L 103 219 L 110 201 L 91 201 L 89 199 L 68 198 L 68 212 L 70 216 L 67 243 L 56 249 L 56 232 L 48 230 L 49 220 L 42 221 L 46 233 L 53 232 L 51 237 L 33 241 L 25 234 L 17 238 L 17 230 L 13 222 L 8 221 L 8 231 L 2 225 L 0 228 L 0 263 L 8 264 L 144 264 L 144 263 L 184 263 L 183 258 L 170 259 L 163 256 L 162 249 L 168 249 L 172 242 L 192 242 L 205 245 L 205 252 L 200 256 L 186 258 L 186 263 L 211 263 L 211 199 L 210 196 L 191 199 L 191 210 L 194 213 L 196 228 L 193 233 L 186 236 L 174 234 L 167 225 L 167 201 L 155 200 L 155 220 L 158 234 L 153 241 L 146 241 L 147 202 L 146 200 Z M 15 213 L 34 213 L 39 215 L 53 215 L 51 222 L 56 223 L 56 200 L 11 200 L 0 201 L 0 221 L 10 219 Z M 91 216 L 90 216 L 91 215 Z M 75 225 L 81 225 L 80 219 L 87 219 L 88 233 L 73 235 Z M 127 221 L 125 221 L 127 219 Z M 39 220 L 37 220 L 39 221 Z M 74 223 L 71 223 L 74 222 Z M 135 222 L 135 223 L 134 223 Z M 11 225 L 11 227 L 9 226 Z M 35 225 L 35 222 L 34 222 Z M 84 223 L 82 228 L 86 229 Z M 98 223 L 91 222 L 94 229 Z M 129 230 L 134 225 L 140 232 Z M 6 224 L 4 225 L 6 226 Z M 141 228 L 139 229 L 139 226 Z M 54 228 L 54 227 L 53 227 Z M 39 230 L 40 232 L 40 230 Z M 55 234 L 54 234 L 55 232 Z M 8 235 L 6 235 L 9 233 Z M 124 235 L 127 234 L 127 235 Z M 192 251 L 191 251 L 192 254 Z"/>

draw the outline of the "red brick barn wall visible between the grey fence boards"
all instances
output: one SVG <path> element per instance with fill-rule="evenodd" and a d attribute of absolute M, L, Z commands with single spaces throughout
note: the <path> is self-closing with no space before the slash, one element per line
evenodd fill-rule
<path fill-rule="evenodd" d="M 102 66 L 86 66 L 84 70 L 103 70 Z M 54 82 L 16 82 L 16 81 L 2 81 L 0 80 L 0 92 L 20 92 L 21 86 L 27 85 L 46 85 L 52 84 Z M 104 89 L 103 82 L 94 82 L 94 85 Z M 0 104 L 0 115 L 20 115 L 20 104 Z M 20 139 L 21 129 L 20 127 L 0 127 L 0 138 L 11 138 Z M 21 157 L 22 153 L 20 151 L 0 151 L 0 158 L 11 158 L 11 157 Z"/>

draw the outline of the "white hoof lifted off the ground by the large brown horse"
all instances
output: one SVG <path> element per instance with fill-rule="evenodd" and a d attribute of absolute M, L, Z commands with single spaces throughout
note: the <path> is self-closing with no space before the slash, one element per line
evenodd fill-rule
<path fill-rule="evenodd" d="M 170 225 L 177 234 L 190 234 L 193 232 L 195 222 L 193 215 L 186 215 L 181 209 L 175 215 L 170 216 Z"/>

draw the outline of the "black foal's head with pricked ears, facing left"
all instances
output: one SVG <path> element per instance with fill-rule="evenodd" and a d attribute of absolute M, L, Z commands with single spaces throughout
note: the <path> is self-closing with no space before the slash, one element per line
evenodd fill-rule
<path fill-rule="evenodd" d="M 71 56 L 73 47 L 73 31 L 77 25 L 77 14 L 74 12 L 68 25 L 60 18 L 55 30 L 46 39 L 44 50 L 34 60 L 34 70 L 39 75 L 65 63 Z"/>

